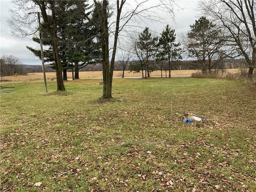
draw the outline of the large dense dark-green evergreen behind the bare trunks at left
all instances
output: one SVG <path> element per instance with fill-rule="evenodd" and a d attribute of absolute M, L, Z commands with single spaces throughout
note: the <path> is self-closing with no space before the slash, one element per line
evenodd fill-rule
<path fill-rule="evenodd" d="M 86 1 L 83 1 L 86 2 Z M 84 10 L 81 12 L 80 8 L 76 7 L 74 1 L 60 1 L 56 5 L 57 9 L 57 34 L 58 34 L 58 50 L 60 53 L 60 60 L 63 69 L 63 79 L 67 80 L 67 69 L 73 68 L 75 64 L 75 79 L 79 78 L 79 69 L 83 68 L 89 63 L 93 63 L 99 59 L 99 43 L 96 39 L 97 31 L 93 25 L 84 17 L 83 12 L 88 10 L 88 4 L 81 4 Z M 46 33 L 45 24 L 43 25 L 43 42 L 49 47 L 46 50 L 46 61 L 54 61 L 52 56 L 52 42 Z M 39 43 L 38 38 L 33 38 L 35 42 Z M 27 48 L 40 58 L 40 50 L 34 48 Z M 78 52 L 80 57 L 78 57 Z M 50 57 L 49 57 L 50 56 Z M 73 58 L 74 57 L 74 58 Z M 55 64 L 52 68 L 55 69 Z"/>

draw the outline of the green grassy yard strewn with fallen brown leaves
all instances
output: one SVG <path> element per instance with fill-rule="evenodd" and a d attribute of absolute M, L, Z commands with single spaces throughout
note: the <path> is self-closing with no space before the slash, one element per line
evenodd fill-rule
<path fill-rule="evenodd" d="M 98 81 L 1 84 L 0 191 L 256 191 L 255 87 L 119 78 L 100 102 Z"/>

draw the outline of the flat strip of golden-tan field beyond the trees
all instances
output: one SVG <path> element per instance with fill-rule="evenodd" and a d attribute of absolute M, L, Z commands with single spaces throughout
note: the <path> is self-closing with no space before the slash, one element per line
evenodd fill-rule
<path fill-rule="evenodd" d="M 238 72 L 239 69 L 228 69 L 228 72 Z M 198 70 L 172 70 L 171 76 L 178 76 L 178 75 L 191 75 L 194 72 L 197 72 Z M 162 72 L 163 77 L 165 77 L 165 71 Z M 153 71 L 151 76 L 161 76 L 161 71 Z M 114 71 L 113 74 L 114 77 L 122 77 L 122 71 Z M 124 72 L 124 77 L 134 77 L 134 76 L 142 76 L 142 73 L 133 73 L 130 71 Z M 168 76 L 168 72 L 167 72 Z M 102 77 L 102 71 L 82 71 L 79 72 L 79 78 L 98 78 Z M 56 73 L 55 72 L 47 72 L 46 78 L 48 80 L 56 79 Z M 68 79 L 72 79 L 72 72 L 68 72 Z M 3 82 L 9 81 L 30 81 L 30 80 L 43 80 L 43 74 L 42 73 L 28 73 L 26 76 L 5 76 L 2 78 Z"/>

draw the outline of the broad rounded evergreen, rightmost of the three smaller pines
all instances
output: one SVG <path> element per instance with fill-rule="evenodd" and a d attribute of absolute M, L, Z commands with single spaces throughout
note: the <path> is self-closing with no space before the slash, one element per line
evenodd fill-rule
<path fill-rule="evenodd" d="M 184 45 L 189 56 L 196 58 L 202 72 L 210 72 L 224 57 L 222 48 L 225 46 L 225 36 L 216 24 L 202 16 L 190 25 L 190 32 L 184 39 Z M 214 60 L 214 62 L 213 62 Z"/>

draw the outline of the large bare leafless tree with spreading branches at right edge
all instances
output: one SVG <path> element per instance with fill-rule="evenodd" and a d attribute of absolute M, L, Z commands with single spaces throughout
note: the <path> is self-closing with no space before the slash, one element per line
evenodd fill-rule
<path fill-rule="evenodd" d="M 256 67 L 256 1 L 200 1 L 199 9 L 228 31 L 230 43 L 236 45 L 236 58 L 245 58 L 248 77 L 251 78 Z"/>

